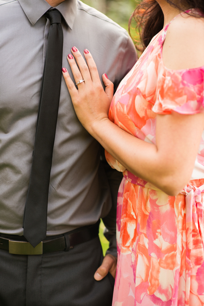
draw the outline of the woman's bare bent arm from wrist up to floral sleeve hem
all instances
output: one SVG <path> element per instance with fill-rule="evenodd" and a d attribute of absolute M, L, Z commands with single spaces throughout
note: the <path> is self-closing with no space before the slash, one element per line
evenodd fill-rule
<path fill-rule="evenodd" d="M 204 114 L 174 112 L 157 117 L 156 145 L 129 134 L 108 118 L 96 121 L 89 132 L 127 170 L 172 196 L 190 180 Z"/>

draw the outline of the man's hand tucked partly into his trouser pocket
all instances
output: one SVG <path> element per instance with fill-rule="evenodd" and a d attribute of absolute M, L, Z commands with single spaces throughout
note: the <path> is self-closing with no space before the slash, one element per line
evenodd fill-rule
<path fill-rule="evenodd" d="M 96 270 L 94 278 L 96 281 L 102 280 L 108 272 L 115 278 L 117 268 L 117 257 L 113 255 L 106 255 L 103 259 L 102 265 Z"/>

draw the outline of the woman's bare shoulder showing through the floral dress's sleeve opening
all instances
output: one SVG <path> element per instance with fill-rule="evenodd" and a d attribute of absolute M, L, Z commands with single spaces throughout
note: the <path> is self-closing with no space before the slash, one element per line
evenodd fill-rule
<path fill-rule="evenodd" d="M 168 26 L 162 49 L 168 69 L 204 66 L 204 18 L 181 14 Z"/>

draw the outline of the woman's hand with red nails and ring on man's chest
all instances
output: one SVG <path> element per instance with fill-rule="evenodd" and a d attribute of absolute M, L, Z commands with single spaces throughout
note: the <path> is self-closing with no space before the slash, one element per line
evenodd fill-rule
<path fill-rule="evenodd" d="M 72 82 L 67 69 L 62 68 L 62 73 L 71 95 L 76 115 L 84 128 L 92 134 L 95 123 L 108 118 L 110 103 L 113 99 L 113 83 L 106 74 L 103 74 L 102 80 L 106 86 L 104 91 L 91 53 L 87 49 L 83 53 L 87 64 L 76 47 L 72 48 L 72 54 L 76 62 L 72 54 L 67 56 L 75 82 L 84 80 L 84 82 L 77 85 L 78 90 Z"/>

